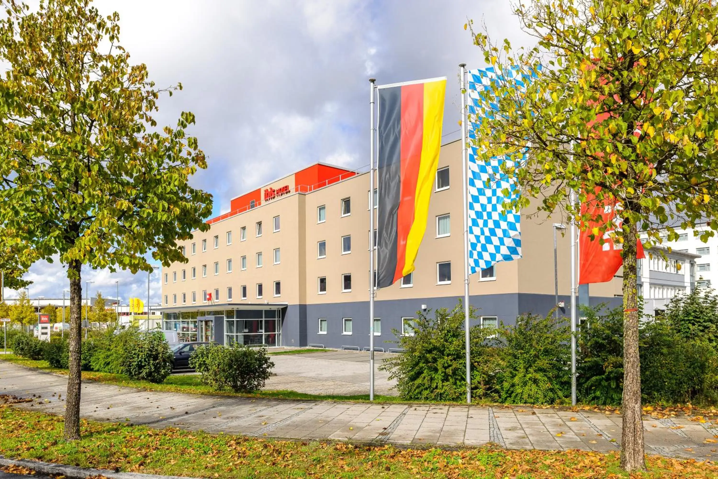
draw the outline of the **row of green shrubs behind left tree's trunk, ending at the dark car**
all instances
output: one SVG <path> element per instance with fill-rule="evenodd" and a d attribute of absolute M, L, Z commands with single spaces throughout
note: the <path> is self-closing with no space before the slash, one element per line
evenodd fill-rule
<path fill-rule="evenodd" d="M 11 348 L 23 358 L 45 359 L 53 368 L 67 368 L 70 362 L 66 338 L 55 337 L 46 343 L 22 332 Z M 126 374 L 152 383 L 162 383 L 172 372 L 172 351 L 160 331 L 129 328 L 96 333 L 83 340 L 80 358 L 83 371 Z"/>

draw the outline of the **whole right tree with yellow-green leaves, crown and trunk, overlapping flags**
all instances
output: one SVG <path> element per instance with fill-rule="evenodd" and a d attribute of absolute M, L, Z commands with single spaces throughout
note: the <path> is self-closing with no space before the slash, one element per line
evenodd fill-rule
<path fill-rule="evenodd" d="M 703 241 L 718 229 L 718 4 L 704 0 L 533 0 L 516 5 L 531 50 L 474 36 L 486 62 L 503 73 L 535 74 L 528 87 L 498 78 L 478 108 L 474 147 L 506 157 L 527 208 L 564 211 L 582 228 L 590 218 L 569 191 L 597 192 L 620 208 L 620 224 L 592 228 L 622 247 L 624 387 L 621 465 L 645 468 L 640 404 L 636 251 L 694 228 Z M 514 71 L 516 71 L 514 70 Z M 525 77 L 526 78 L 526 77 Z M 496 113 L 498 110 L 498 114 Z M 521 161 L 522 167 L 510 167 Z"/>

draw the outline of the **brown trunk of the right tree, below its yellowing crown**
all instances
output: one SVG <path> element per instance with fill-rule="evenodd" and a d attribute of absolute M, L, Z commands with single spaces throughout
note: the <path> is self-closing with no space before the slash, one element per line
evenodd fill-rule
<path fill-rule="evenodd" d="M 625 223 L 624 223 L 624 226 Z M 625 230 L 624 230 L 625 231 Z M 636 225 L 628 225 L 623 237 L 623 433 L 621 468 L 644 470 L 643 418 L 640 408 L 640 361 L 638 357 L 638 292 L 636 290 Z"/>

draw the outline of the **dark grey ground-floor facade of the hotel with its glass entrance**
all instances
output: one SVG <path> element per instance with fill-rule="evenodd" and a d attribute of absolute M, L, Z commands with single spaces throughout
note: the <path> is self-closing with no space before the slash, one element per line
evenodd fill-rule
<path fill-rule="evenodd" d="M 586 297 L 582 298 L 585 302 Z M 569 296 L 559 296 L 565 307 L 559 317 L 570 315 Z M 590 306 L 617 307 L 621 297 L 589 297 Z M 398 336 L 411 334 L 411 320 L 420 313 L 434 315 L 441 308 L 457 307 L 460 298 L 393 299 L 374 304 L 374 347 L 398 348 Z M 491 327 L 516 323 L 525 314 L 547 315 L 556 304 L 552 294 L 487 294 L 470 297 L 476 308 L 472 325 Z M 211 304 L 164 312 L 163 329 L 177 330 L 182 341 L 213 340 L 227 345 L 269 345 L 326 348 L 369 347 L 369 302 L 324 304 Z"/>

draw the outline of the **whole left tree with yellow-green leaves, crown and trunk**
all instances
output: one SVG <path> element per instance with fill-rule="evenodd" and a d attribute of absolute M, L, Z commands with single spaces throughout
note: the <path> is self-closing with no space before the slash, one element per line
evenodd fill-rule
<path fill-rule="evenodd" d="M 80 438 L 82 268 L 151 271 L 187 261 L 177 241 L 206 231 L 212 197 L 189 185 L 206 168 L 195 123 L 157 128 L 156 88 L 118 44 L 119 15 L 90 0 L 46 0 L 37 11 L 1 0 L 0 225 L 37 259 L 59 257 L 70 281 L 65 438 Z"/>

